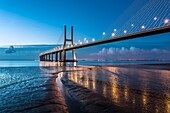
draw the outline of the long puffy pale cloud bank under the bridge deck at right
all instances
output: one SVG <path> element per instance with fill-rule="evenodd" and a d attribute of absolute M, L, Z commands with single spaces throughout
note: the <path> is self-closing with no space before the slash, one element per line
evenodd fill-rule
<path fill-rule="evenodd" d="M 170 51 L 168 50 L 164 50 L 164 49 L 157 49 L 157 48 L 153 48 L 153 49 L 141 49 L 141 48 L 136 48 L 136 47 L 130 47 L 130 48 L 125 48 L 125 47 L 121 47 L 121 48 L 103 48 L 102 50 L 100 50 L 97 53 L 92 53 L 90 54 L 90 56 L 107 56 L 107 55 L 123 55 L 123 54 L 148 54 L 148 53 L 170 53 Z"/>

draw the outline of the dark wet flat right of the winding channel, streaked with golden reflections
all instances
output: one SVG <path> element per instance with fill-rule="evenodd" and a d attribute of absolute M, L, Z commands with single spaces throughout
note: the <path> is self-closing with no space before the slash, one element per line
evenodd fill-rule
<path fill-rule="evenodd" d="M 91 66 L 58 76 L 85 113 L 169 113 L 170 70 L 163 65 Z M 68 106 L 69 107 L 69 106 Z"/>

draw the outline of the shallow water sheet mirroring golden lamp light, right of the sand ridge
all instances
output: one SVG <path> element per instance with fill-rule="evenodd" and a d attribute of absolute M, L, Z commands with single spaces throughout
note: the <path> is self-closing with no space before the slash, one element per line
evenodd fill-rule
<path fill-rule="evenodd" d="M 170 112 L 170 71 L 121 67 L 68 72 L 69 80 L 133 112 Z"/>

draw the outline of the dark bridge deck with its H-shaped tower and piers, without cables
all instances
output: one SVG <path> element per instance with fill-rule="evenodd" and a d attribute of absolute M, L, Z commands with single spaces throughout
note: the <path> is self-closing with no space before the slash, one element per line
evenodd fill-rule
<path fill-rule="evenodd" d="M 152 28 L 152 29 L 149 29 L 149 30 L 143 30 L 143 31 L 140 31 L 140 32 L 136 32 L 136 33 L 132 33 L 132 34 L 126 34 L 126 35 L 123 35 L 123 36 L 107 38 L 107 39 L 104 39 L 104 40 L 89 42 L 89 43 L 85 43 L 85 44 L 81 44 L 81 45 L 74 45 L 72 43 L 72 46 L 66 47 L 66 41 L 73 42 L 73 27 L 72 27 L 72 30 L 71 30 L 71 37 L 72 38 L 66 39 L 66 26 L 65 26 L 64 27 L 64 34 L 65 34 L 65 36 L 64 36 L 65 37 L 64 47 L 57 49 L 57 50 L 41 53 L 40 54 L 40 61 L 75 62 L 75 61 L 77 61 L 76 57 L 75 57 L 75 53 L 74 52 L 72 53 L 73 59 L 67 60 L 66 59 L 66 51 L 90 47 L 90 46 L 96 46 L 96 45 L 100 45 L 100 44 L 124 41 L 124 40 L 129 40 L 129 39 L 143 38 L 143 37 L 146 37 L 146 36 L 163 34 L 163 33 L 168 33 L 168 32 L 170 32 L 170 25 L 158 27 L 158 28 Z M 53 57 L 54 54 L 55 54 L 55 59 Z M 59 59 L 58 59 L 58 54 L 59 54 Z"/>

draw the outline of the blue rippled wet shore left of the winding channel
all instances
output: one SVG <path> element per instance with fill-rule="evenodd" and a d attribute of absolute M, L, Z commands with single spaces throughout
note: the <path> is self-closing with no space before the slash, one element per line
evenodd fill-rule
<path fill-rule="evenodd" d="M 67 113 L 56 76 L 40 67 L 0 68 L 0 113 Z"/>

